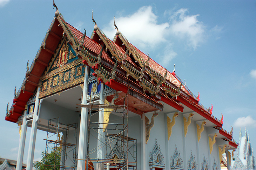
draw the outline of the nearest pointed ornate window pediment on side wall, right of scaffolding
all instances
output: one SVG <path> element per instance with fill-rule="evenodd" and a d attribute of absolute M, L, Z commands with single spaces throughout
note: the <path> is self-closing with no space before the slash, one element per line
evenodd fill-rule
<path fill-rule="evenodd" d="M 165 169 L 164 157 L 160 149 L 160 145 L 157 145 L 157 141 L 155 141 L 154 148 L 151 152 L 149 152 L 149 168 L 153 169 Z"/>

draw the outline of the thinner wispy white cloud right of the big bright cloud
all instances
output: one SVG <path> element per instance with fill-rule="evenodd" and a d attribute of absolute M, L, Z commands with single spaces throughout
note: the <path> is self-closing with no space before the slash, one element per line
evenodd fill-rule
<path fill-rule="evenodd" d="M 188 9 L 181 8 L 170 16 L 170 31 L 187 39 L 187 45 L 195 50 L 204 41 L 205 26 L 197 20 L 197 15 L 187 15 Z"/>

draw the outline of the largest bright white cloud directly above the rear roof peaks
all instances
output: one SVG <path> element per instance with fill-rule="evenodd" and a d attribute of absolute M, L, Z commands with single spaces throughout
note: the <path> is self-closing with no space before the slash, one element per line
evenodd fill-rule
<path fill-rule="evenodd" d="M 141 7 L 137 12 L 126 17 L 116 17 L 115 23 L 124 36 L 139 48 L 154 47 L 165 42 L 164 34 L 169 27 L 168 23 L 157 23 L 158 16 L 152 12 L 151 6 Z M 108 36 L 115 35 L 113 20 L 103 28 Z"/>

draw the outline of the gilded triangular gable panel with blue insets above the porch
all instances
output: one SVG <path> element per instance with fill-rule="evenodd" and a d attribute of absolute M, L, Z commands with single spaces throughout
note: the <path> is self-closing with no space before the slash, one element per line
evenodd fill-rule
<path fill-rule="evenodd" d="M 83 83 L 85 68 L 82 60 L 76 56 L 71 45 L 67 43 L 67 38 L 62 39 L 56 51 L 58 52 L 54 54 L 45 74 L 40 78 L 40 98 L 60 93 Z"/>

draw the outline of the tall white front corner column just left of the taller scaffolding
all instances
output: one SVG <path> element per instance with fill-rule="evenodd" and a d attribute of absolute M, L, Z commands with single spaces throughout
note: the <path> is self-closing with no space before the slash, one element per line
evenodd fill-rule
<path fill-rule="evenodd" d="M 87 103 L 86 97 L 88 94 L 88 76 L 89 76 L 89 67 L 86 66 L 85 67 L 85 79 L 83 82 L 83 96 L 82 96 L 81 104 Z M 87 146 L 87 120 L 88 120 L 88 108 L 81 108 L 77 170 L 85 170 L 85 156 L 86 156 L 86 146 Z"/>

